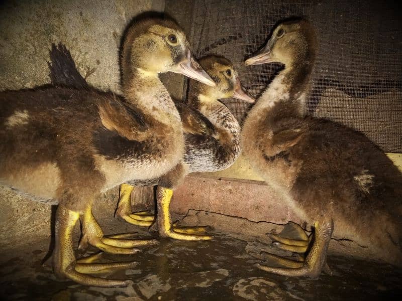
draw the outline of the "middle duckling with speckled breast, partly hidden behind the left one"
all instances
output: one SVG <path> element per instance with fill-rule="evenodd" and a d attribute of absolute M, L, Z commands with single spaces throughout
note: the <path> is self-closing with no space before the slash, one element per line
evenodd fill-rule
<path fill-rule="evenodd" d="M 76 70 L 74 61 L 65 46 L 59 44 L 59 49 L 53 46 L 50 58 L 50 77 L 53 84 L 82 86 L 84 79 Z M 180 175 L 175 174 L 176 178 L 169 180 L 175 181 L 176 184 L 188 172 L 211 172 L 228 168 L 240 155 L 239 123 L 218 99 L 235 97 L 250 103 L 254 102 L 254 99 L 242 86 L 239 76 L 229 60 L 219 56 L 207 56 L 199 62 L 214 79 L 216 87 L 198 84 L 191 80 L 188 104 L 173 99 L 183 124 L 184 164 L 188 166 L 187 172 Z M 152 215 L 145 214 L 145 212 L 131 212 L 130 195 L 133 186 L 156 185 L 160 181 L 166 182 L 166 179 L 163 180 L 164 178 L 166 176 L 161 179 L 135 180 L 122 184 L 116 215 L 134 225 L 150 226 L 154 220 Z M 171 187 L 175 185 L 170 184 Z M 158 213 L 163 219 L 159 220 L 158 228 L 162 237 L 183 240 L 211 238 L 206 235 L 189 235 L 205 231 L 203 227 L 172 226 L 169 206 L 159 207 Z"/>

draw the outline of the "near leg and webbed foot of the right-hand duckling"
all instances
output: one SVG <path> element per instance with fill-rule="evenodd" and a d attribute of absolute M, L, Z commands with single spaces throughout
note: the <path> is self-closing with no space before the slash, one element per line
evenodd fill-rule
<path fill-rule="evenodd" d="M 268 263 L 272 263 L 274 266 L 266 266 L 259 263 L 256 266 L 267 272 L 283 276 L 309 276 L 311 278 L 317 278 L 323 268 L 328 271 L 329 267 L 326 263 L 326 255 L 334 230 L 334 223 L 331 219 L 323 222 L 315 222 L 314 225 L 313 244 L 304 261 L 290 260 L 269 254 L 267 256 Z M 278 267 L 278 265 L 285 267 Z"/>

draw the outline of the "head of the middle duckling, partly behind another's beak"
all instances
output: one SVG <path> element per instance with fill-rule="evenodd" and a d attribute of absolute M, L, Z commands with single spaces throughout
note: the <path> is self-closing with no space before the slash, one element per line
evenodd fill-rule
<path fill-rule="evenodd" d="M 201 83 L 191 83 L 196 94 L 202 94 L 207 99 L 224 99 L 234 97 L 254 103 L 254 98 L 242 85 L 239 75 L 232 63 L 220 56 L 210 55 L 199 60 L 200 65 L 214 79 L 216 86 L 211 87 Z"/>

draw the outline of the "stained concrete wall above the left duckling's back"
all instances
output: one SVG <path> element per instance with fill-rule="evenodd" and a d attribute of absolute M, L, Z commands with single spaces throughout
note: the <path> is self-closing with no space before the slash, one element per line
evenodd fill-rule
<path fill-rule="evenodd" d="M 46 60 L 52 42 L 70 49 L 92 85 L 119 90 L 118 49 L 123 30 L 152 0 L 8 1 L 0 11 L 0 89 L 49 82 Z"/>

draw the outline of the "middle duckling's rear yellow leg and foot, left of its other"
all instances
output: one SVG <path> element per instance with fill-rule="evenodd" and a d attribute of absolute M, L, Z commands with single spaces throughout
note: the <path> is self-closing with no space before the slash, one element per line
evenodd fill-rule
<path fill-rule="evenodd" d="M 116 215 L 120 216 L 126 222 L 143 227 L 149 227 L 154 221 L 153 215 L 131 212 L 130 196 L 134 187 L 128 184 L 120 185 L 119 202 L 117 205 Z"/>

